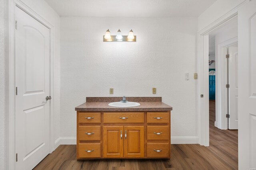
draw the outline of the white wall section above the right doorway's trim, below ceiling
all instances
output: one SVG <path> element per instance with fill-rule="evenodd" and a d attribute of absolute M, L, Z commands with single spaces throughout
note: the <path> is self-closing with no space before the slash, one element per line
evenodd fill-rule
<path fill-rule="evenodd" d="M 228 12 L 232 14 L 237 12 L 234 8 L 246 1 L 248 0 L 217 0 L 198 17 L 198 31 L 222 18 Z"/>

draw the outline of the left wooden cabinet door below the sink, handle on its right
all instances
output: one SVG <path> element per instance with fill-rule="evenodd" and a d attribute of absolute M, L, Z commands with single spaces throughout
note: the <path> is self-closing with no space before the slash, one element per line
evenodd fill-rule
<path fill-rule="evenodd" d="M 104 158 L 124 157 L 124 127 L 103 126 L 103 156 Z M 122 133 L 122 139 L 121 139 Z"/>

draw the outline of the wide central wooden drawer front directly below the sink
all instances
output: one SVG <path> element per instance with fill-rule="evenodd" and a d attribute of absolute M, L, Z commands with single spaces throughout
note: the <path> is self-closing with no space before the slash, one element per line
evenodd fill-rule
<path fill-rule="evenodd" d="M 104 123 L 144 123 L 144 112 L 103 113 Z"/>

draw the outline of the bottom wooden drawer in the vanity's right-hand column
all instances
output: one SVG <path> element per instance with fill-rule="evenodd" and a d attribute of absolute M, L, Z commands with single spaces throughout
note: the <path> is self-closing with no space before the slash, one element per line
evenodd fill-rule
<path fill-rule="evenodd" d="M 170 157 L 169 143 L 147 143 L 148 158 Z"/>

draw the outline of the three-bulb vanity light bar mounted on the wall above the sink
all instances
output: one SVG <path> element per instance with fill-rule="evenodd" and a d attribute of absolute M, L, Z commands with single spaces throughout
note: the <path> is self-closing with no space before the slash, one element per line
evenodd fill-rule
<path fill-rule="evenodd" d="M 103 36 L 104 42 L 136 42 L 136 35 L 133 34 L 133 31 L 129 32 L 128 35 L 122 35 L 120 29 L 117 31 L 117 35 L 110 35 L 109 29 L 106 31 Z"/>

